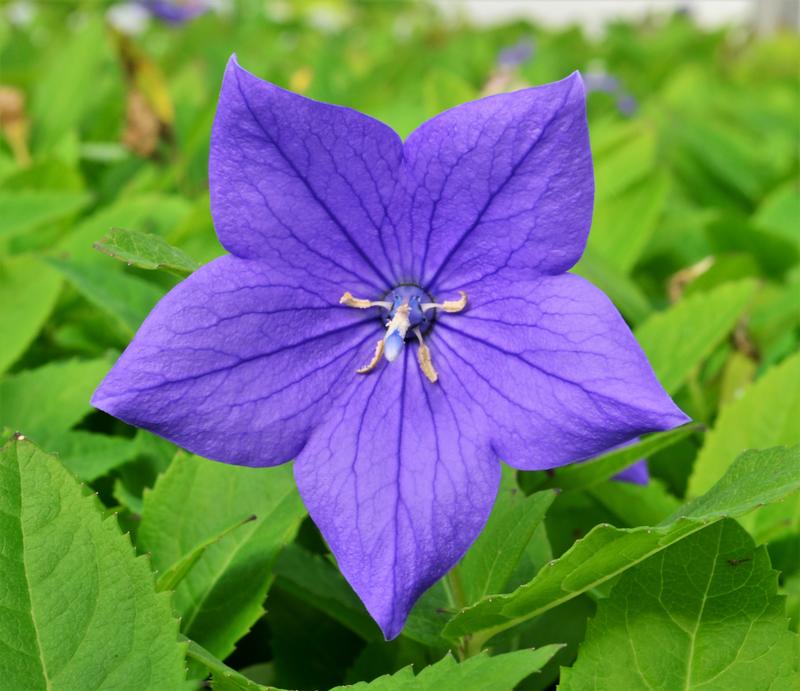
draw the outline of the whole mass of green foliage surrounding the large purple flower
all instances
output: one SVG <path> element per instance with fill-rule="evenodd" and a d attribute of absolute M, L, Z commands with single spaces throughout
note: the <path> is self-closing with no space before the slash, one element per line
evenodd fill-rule
<path fill-rule="evenodd" d="M 797 687 L 796 36 L 676 16 L 590 41 L 417 3 L 254 1 L 125 37 L 104 11 L 0 22 L 3 688 Z M 521 42 L 531 55 L 500 68 Z M 288 466 L 214 464 L 88 403 L 153 304 L 221 254 L 206 161 L 234 51 L 403 134 L 575 68 L 636 101 L 589 97 L 597 199 L 577 271 L 697 423 L 507 472 L 481 537 L 391 643 Z M 611 480 L 642 457 L 648 487 Z"/>

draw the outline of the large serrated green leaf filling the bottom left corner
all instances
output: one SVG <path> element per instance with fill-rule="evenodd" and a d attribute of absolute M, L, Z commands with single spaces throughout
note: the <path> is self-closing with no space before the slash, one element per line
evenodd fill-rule
<path fill-rule="evenodd" d="M 28 441 L 0 451 L 0 487 L 3 687 L 181 688 L 178 622 L 116 521 Z"/>

